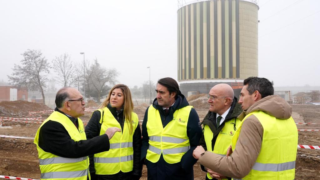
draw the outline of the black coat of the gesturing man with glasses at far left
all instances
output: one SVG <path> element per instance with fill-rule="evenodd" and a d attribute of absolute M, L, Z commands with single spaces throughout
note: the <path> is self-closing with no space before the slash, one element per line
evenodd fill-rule
<path fill-rule="evenodd" d="M 55 111 L 64 114 L 57 108 Z M 75 118 L 68 118 L 74 124 L 76 123 L 76 126 L 78 125 Z M 40 128 L 38 144 L 42 150 L 64 158 L 80 158 L 110 149 L 109 138 L 106 134 L 90 140 L 74 141 L 62 124 L 51 120 Z"/>

